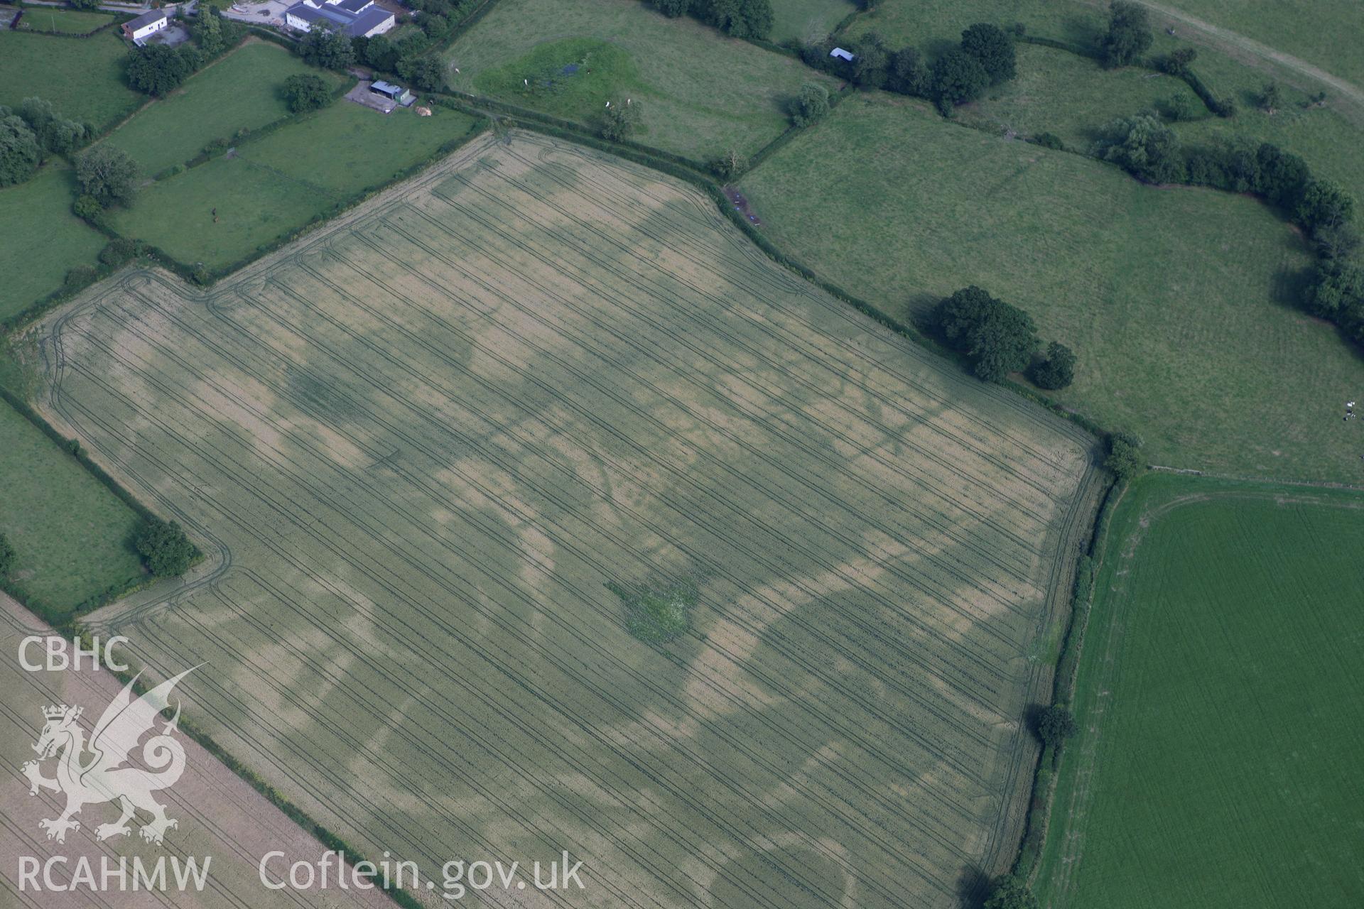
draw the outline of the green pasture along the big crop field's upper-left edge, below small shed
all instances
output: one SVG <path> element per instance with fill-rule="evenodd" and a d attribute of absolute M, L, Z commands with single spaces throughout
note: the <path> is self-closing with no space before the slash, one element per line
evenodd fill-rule
<path fill-rule="evenodd" d="M 158 180 L 131 209 L 113 213 L 115 229 L 186 264 L 226 267 L 469 135 L 473 119 L 434 110 L 431 117 L 411 109 L 385 116 L 338 101 L 240 146 L 232 158 Z"/>

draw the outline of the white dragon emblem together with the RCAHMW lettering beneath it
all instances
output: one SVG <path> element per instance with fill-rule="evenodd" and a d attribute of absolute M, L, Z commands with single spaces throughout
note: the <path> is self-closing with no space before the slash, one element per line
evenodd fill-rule
<path fill-rule="evenodd" d="M 161 722 L 160 733 L 157 720 L 170 706 L 170 692 L 191 672 L 194 669 L 186 669 L 140 698 L 132 691 L 136 681 L 134 677 L 100 714 L 89 739 L 80 722 L 83 707 L 63 703 L 42 709 L 45 722 L 33 744 L 38 759 L 26 762 L 20 771 L 29 780 L 29 795 L 35 796 L 46 789 L 65 797 L 60 815 L 38 822 L 48 839 L 65 842 L 68 833 L 80 829 L 75 815 L 87 805 L 106 801 L 117 804 L 119 816 L 112 823 L 95 826 L 95 839 L 130 835 L 132 823 L 139 820 L 139 812 L 150 815 L 138 829 L 138 834 L 149 844 L 162 845 L 166 831 L 179 827 L 179 822 L 166 816 L 165 805 L 153 793 L 173 786 L 184 773 L 184 745 L 175 737 L 180 705 L 176 703 L 175 715 L 169 721 Z M 153 735 L 143 743 L 147 733 Z M 130 760 L 134 750 L 138 750 L 138 763 Z M 45 774 L 49 760 L 55 762 L 50 777 Z M 20 856 L 19 889 L 202 890 L 210 863 L 211 856 L 203 857 L 202 865 L 194 857 L 170 857 L 168 875 L 166 856 L 150 863 L 140 857 L 128 860 L 102 856 L 98 869 L 83 856 L 75 860 L 52 856 L 45 861 Z M 63 883 L 65 871 L 70 871 L 71 878 Z"/>

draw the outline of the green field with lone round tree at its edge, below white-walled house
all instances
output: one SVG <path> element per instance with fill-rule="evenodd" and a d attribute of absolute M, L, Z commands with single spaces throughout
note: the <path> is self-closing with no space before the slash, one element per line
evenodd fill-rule
<path fill-rule="evenodd" d="M 342 78 L 310 67 L 276 44 L 250 40 L 192 75 L 170 97 L 139 110 L 106 142 L 127 151 L 146 176 L 154 176 L 194 158 L 214 139 L 231 143 L 240 129 L 288 117 L 284 80 L 297 74 L 319 75 L 331 86 Z M 310 157 L 323 155 L 314 150 Z"/>

